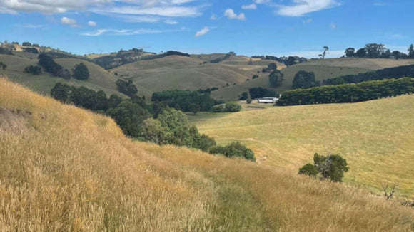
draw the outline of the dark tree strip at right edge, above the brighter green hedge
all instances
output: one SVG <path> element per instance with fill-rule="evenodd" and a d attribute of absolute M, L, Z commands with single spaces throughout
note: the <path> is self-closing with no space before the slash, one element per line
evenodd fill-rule
<path fill-rule="evenodd" d="M 323 85 L 361 83 L 368 80 L 384 80 L 392 78 L 414 78 L 414 65 L 385 68 L 368 73 L 359 73 L 356 75 L 343 75 L 337 78 L 323 80 Z"/>

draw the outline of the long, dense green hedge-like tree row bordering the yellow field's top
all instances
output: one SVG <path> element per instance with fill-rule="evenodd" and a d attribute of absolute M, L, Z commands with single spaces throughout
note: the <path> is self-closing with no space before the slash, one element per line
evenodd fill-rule
<path fill-rule="evenodd" d="M 414 78 L 370 80 L 363 83 L 325 85 L 288 90 L 276 105 L 307 105 L 319 103 L 363 102 L 414 92 Z"/>

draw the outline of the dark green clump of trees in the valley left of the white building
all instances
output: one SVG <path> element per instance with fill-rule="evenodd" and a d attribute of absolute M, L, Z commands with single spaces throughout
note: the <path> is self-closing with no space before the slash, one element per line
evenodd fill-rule
<path fill-rule="evenodd" d="M 211 98 L 210 93 L 198 93 L 190 90 L 165 90 L 153 93 L 153 102 L 165 102 L 168 107 L 183 112 L 192 112 L 191 105 L 198 105 L 199 111 L 211 111 L 219 102 Z"/>

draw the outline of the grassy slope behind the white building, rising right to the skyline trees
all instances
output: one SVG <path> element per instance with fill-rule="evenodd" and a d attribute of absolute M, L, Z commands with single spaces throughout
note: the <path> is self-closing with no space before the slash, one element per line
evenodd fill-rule
<path fill-rule="evenodd" d="M 291 88 L 293 78 L 299 70 L 314 72 L 316 80 L 325 80 L 335 78 L 340 75 L 351 75 L 357 73 L 365 73 L 370 70 L 378 70 L 383 68 L 392 68 L 400 65 L 412 65 L 414 60 L 390 60 L 390 59 L 365 59 L 365 58 L 334 58 L 325 60 L 309 60 L 306 63 L 300 63 L 288 68 L 284 68 L 282 72 L 285 74 L 285 82 L 276 91 L 283 92 Z M 231 86 L 225 90 L 213 92 L 212 96 L 221 100 L 237 100 L 238 95 L 248 92 L 249 88 L 262 87 L 270 88 L 268 83 L 268 74 L 262 73 L 261 78 L 241 85 Z M 263 77 L 263 78 L 262 78 Z"/>

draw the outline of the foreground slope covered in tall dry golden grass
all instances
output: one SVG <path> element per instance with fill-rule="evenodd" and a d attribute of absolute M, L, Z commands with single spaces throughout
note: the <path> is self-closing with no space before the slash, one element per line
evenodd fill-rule
<path fill-rule="evenodd" d="M 352 187 L 185 148 L 0 79 L 0 230 L 412 231 Z"/>

